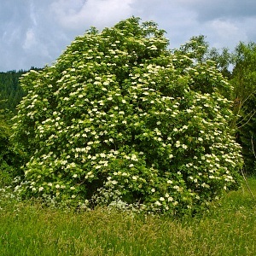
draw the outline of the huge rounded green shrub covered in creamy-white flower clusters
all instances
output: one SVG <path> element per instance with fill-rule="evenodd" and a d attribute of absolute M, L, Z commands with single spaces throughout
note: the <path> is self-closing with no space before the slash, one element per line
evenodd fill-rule
<path fill-rule="evenodd" d="M 23 75 L 15 141 L 21 193 L 77 206 L 196 209 L 237 185 L 230 84 L 212 61 L 167 49 L 153 22 L 92 28 L 51 67 Z"/>

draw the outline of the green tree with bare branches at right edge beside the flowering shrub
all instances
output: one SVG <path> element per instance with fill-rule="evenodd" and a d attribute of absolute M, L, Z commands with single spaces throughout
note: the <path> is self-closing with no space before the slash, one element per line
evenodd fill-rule
<path fill-rule="evenodd" d="M 240 43 L 234 53 L 232 79 L 235 111 L 240 115 L 236 125 L 245 160 L 245 171 L 255 173 L 256 162 L 256 44 Z"/>

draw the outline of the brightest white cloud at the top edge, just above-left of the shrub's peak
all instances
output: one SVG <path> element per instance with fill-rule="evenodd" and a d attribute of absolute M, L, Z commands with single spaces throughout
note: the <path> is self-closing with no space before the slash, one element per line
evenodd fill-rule
<path fill-rule="evenodd" d="M 68 30 L 85 30 L 90 26 L 103 28 L 132 15 L 135 0 L 58 0 L 50 6 L 57 22 Z"/>

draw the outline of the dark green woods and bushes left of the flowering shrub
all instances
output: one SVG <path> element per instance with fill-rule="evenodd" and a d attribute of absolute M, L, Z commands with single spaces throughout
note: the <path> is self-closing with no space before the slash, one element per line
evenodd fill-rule
<path fill-rule="evenodd" d="M 0 185 L 9 185 L 15 176 L 21 175 L 23 154 L 14 148 L 10 139 L 12 131 L 11 118 L 16 113 L 25 92 L 21 89 L 19 79 L 26 71 L 9 71 L 0 73 Z"/>

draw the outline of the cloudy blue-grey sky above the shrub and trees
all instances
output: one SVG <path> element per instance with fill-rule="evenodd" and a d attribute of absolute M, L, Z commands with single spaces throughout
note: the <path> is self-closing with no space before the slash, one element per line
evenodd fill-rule
<path fill-rule="evenodd" d="M 90 26 L 131 15 L 157 22 L 171 49 L 198 35 L 219 49 L 256 42 L 255 0 L 0 0 L 0 72 L 50 65 Z"/>

